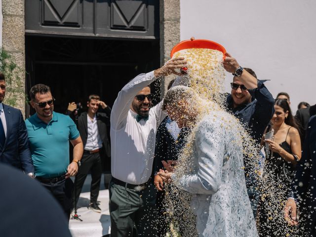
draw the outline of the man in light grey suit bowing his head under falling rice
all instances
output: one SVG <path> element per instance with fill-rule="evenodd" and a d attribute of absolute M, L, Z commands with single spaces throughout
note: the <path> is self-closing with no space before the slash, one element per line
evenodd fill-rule
<path fill-rule="evenodd" d="M 186 86 L 172 87 L 162 109 L 180 128 L 192 128 L 175 172 L 161 169 L 158 175 L 192 194 L 198 236 L 258 236 L 242 169 L 237 118 Z"/>

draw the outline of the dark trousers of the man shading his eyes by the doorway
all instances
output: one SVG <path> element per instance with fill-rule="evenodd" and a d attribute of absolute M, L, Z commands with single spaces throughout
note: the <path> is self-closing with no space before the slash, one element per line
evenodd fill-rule
<path fill-rule="evenodd" d="M 81 165 L 79 166 L 78 174 L 75 178 L 75 188 L 73 190 L 73 199 L 72 207 L 75 207 L 75 198 L 76 204 L 78 203 L 79 196 L 84 184 L 84 180 L 87 177 L 89 171 L 91 171 L 91 188 L 90 188 L 90 202 L 96 203 L 99 191 L 100 191 L 100 182 L 102 176 L 102 162 L 101 162 L 102 152 L 97 152 L 89 154 L 84 152 L 81 158 Z"/>

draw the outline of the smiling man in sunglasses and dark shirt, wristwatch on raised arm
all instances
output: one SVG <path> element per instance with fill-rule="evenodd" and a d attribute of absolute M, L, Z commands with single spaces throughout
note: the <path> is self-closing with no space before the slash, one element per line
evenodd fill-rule
<path fill-rule="evenodd" d="M 234 78 L 231 83 L 232 91 L 227 97 L 227 107 L 245 127 L 250 130 L 251 137 L 260 143 L 263 132 L 274 114 L 275 100 L 265 86 L 265 80 L 258 80 L 254 71 L 250 68 L 242 68 L 237 60 L 226 53 L 224 68 L 232 73 Z M 257 209 L 256 182 L 249 174 L 245 163 L 246 186 L 254 215 Z"/>

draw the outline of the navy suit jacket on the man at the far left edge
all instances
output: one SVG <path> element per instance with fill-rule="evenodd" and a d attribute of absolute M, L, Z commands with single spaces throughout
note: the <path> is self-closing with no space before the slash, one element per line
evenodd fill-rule
<path fill-rule="evenodd" d="M 26 174 L 34 172 L 28 133 L 20 110 L 4 105 L 6 138 L 0 144 L 0 161 L 22 169 Z M 47 144 L 48 145 L 48 144 Z"/>

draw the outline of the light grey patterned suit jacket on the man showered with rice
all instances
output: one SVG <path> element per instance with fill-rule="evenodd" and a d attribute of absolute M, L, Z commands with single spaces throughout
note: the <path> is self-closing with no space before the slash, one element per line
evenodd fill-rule
<path fill-rule="evenodd" d="M 230 117 L 212 112 L 197 124 L 192 171 L 175 182 L 193 194 L 191 208 L 200 237 L 258 236 L 246 190 L 240 132 Z"/>

